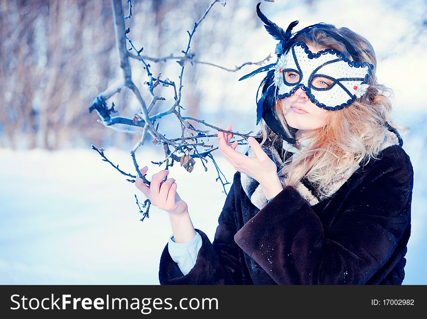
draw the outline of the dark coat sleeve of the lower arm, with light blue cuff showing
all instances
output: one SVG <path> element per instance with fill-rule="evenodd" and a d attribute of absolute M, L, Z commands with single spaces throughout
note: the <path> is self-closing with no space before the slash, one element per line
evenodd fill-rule
<path fill-rule="evenodd" d="M 235 188 L 240 187 L 239 172 L 234 174 L 222 212 L 218 218 L 213 243 L 205 233 L 201 235 L 202 245 L 197 253 L 194 267 L 183 275 L 172 260 L 167 245 L 160 258 L 159 280 L 161 285 L 232 285 L 243 284 L 242 265 L 239 259 L 239 247 L 234 242 L 236 234 Z"/>

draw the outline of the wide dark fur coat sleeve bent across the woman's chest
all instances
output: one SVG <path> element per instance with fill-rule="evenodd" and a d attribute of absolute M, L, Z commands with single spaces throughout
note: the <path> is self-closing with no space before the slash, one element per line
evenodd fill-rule
<path fill-rule="evenodd" d="M 378 161 L 375 177 L 354 190 L 345 208 L 330 212 L 337 216 L 330 227 L 285 186 L 236 233 L 236 243 L 279 285 L 366 283 L 411 220 L 413 169 L 404 155 L 394 165 Z"/>

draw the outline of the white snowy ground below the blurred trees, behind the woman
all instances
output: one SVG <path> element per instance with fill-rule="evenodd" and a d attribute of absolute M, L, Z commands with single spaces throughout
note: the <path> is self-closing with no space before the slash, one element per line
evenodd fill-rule
<path fill-rule="evenodd" d="M 137 155 L 141 167 L 148 159 L 161 158 L 145 152 Z M 133 172 L 126 152 L 107 149 L 105 154 Z M 234 168 L 219 152 L 216 157 L 232 182 Z M 177 180 L 195 227 L 212 240 L 225 194 L 215 182 L 212 163 L 208 169 L 204 172 L 197 162 L 190 174 L 177 165 L 170 176 Z M 157 171 L 150 164 L 148 176 Z M 56 152 L 0 149 L 0 181 L 0 284 L 159 283 L 159 259 L 171 234 L 166 213 L 152 206 L 150 218 L 140 222 L 134 200 L 139 190 L 90 147 Z M 144 200 L 142 193 L 138 197 Z M 427 284 L 421 209 L 426 200 L 414 194 L 412 207 L 404 284 Z"/>

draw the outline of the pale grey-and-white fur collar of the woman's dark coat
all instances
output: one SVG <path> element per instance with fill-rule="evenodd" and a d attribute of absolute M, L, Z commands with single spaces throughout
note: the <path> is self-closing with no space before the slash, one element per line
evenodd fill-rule
<path fill-rule="evenodd" d="M 389 130 L 386 132 L 384 141 L 381 145 L 381 151 L 392 145 L 403 146 L 403 140 L 399 133 L 394 128 L 389 126 Z M 278 168 L 283 165 L 284 161 L 299 151 L 292 144 L 289 144 L 285 140 L 283 140 L 282 146 L 283 150 L 286 150 L 284 158 L 282 158 L 278 152 L 280 147 L 269 148 L 265 147 L 265 144 L 262 147 L 266 154 L 276 163 Z M 250 147 L 246 151 L 246 155 L 249 157 L 255 157 L 255 153 L 251 150 Z M 311 206 L 315 205 L 318 202 L 332 196 L 359 167 L 360 165 L 356 165 L 353 168 L 349 168 L 345 173 L 335 176 L 323 189 L 323 191 L 327 193 L 327 196 L 325 197 L 317 195 L 317 192 L 312 187 L 312 185 L 310 185 L 310 183 L 304 179 L 298 183 L 296 190 L 305 200 L 309 202 Z M 280 177 L 279 179 L 283 185 L 284 177 Z M 252 204 L 261 210 L 267 204 L 267 199 L 265 198 L 261 185 L 255 179 L 246 175 L 245 173 L 240 174 L 240 182 L 246 193 L 246 196 L 250 199 Z"/>

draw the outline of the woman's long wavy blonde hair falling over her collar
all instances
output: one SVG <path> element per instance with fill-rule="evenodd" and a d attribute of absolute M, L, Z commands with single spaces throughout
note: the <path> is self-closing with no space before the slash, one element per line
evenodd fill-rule
<path fill-rule="evenodd" d="M 378 159 L 381 144 L 388 131 L 387 123 L 405 130 L 408 127 L 396 126 L 390 119 L 392 104 L 386 95 L 391 96 L 391 89 L 379 84 L 376 77 L 377 58 L 372 45 L 361 35 L 348 28 L 337 29 L 328 25 L 328 29 L 344 37 L 354 48 L 359 49 L 361 62 L 369 62 L 374 66 L 369 78 L 369 88 L 366 94 L 341 110 L 329 111 L 327 124 L 315 130 L 311 143 L 292 159 L 284 162 L 279 170 L 279 177 L 285 176 L 285 184 L 296 187 L 302 178 L 306 178 L 318 191 L 321 197 L 328 194 L 322 189 L 328 185 L 334 176 L 355 168 L 364 166 L 371 159 Z M 322 31 L 322 27 L 314 27 L 307 34 L 297 34 L 297 41 L 314 47 L 335 49 L 350 57 L 345 46 Z M 281 108 L 281 100 L 276 101 L 274 112 L 285 131 L 292 136 Z M 386 123 L 387 122 L 387 123 Z M 262 119 L 260 121 L 262 135 L 261 145 L 267 138 L 271 142 L 268 147 L 274 147 L 281 137 L 275 134 Z M 281 144 L 281 143 L 279 143 Z M 299 143 L 296 144 L 298 149 Z"/>

